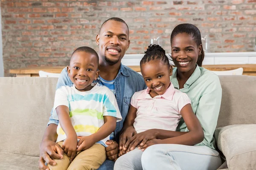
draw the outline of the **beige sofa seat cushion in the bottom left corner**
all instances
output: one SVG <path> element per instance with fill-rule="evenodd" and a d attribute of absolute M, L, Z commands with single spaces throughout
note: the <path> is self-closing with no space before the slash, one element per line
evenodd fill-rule
<path fill-rule="evenodd" d="M 0 152 L 1 170 L 37 170 L 38 157 Z"/>

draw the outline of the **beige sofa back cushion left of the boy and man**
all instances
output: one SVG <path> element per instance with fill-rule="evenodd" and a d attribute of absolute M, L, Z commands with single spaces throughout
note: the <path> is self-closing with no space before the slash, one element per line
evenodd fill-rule
<path fill-rule="evenodd" d="M 39 156 L 57 80 L 0 77 L 0 152 Z"/>

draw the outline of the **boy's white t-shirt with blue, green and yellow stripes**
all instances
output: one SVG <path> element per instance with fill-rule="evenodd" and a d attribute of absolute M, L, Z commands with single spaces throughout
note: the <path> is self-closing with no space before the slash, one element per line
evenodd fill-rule
<path fill-rule="evenodd" d="M 104 124 L 103 116 L 116 117 L 116 122 L 122 120 L 116 98 L 105 86 L 98 83 L 92 84 L 94 87 L 90 91 L 78 91 L 74 85 L 62 86 L 55 92 L 53 119 L 58 120 L 56 108 L 65 105 L 69 108 L 70 119 L 77 136 L 90 136 L 96 133 Z M 57 127 L 58 138 L 56 142 L 67 138 L 61 125 Z M 106 146 L 105 139 L 97 142 Z"/>

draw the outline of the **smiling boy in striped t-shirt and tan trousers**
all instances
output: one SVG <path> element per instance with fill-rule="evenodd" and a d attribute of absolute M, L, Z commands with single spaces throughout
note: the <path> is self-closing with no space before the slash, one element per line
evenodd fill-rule
<path fill-rule="evenodd" d="M 67 72 L 73 85 L 55 93 L 53 118 L 59 120 L 56 143 L 64 150 L 51 170 L 98 169 L 105 161 L 105 142 L 122 120 L 114 94 L 92 83 L 99 76 L 99 57 L 90 47 L 77 48 Z M 79 141 L 79 142 L 78 142 Z M 76 157 L 76 158 L 75 158 Z M 71 162 L 71 163 L 70 163 Z"/>

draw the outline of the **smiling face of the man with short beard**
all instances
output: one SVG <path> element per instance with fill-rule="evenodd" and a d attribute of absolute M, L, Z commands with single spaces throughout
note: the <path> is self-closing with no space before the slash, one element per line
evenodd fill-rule
<path fill-rule="evenodd" d="M 99 57 L 110 65 L 121 62 L 130 45 L 129 32 L 125 23 L 109 20 L 96 36 Z"/>

